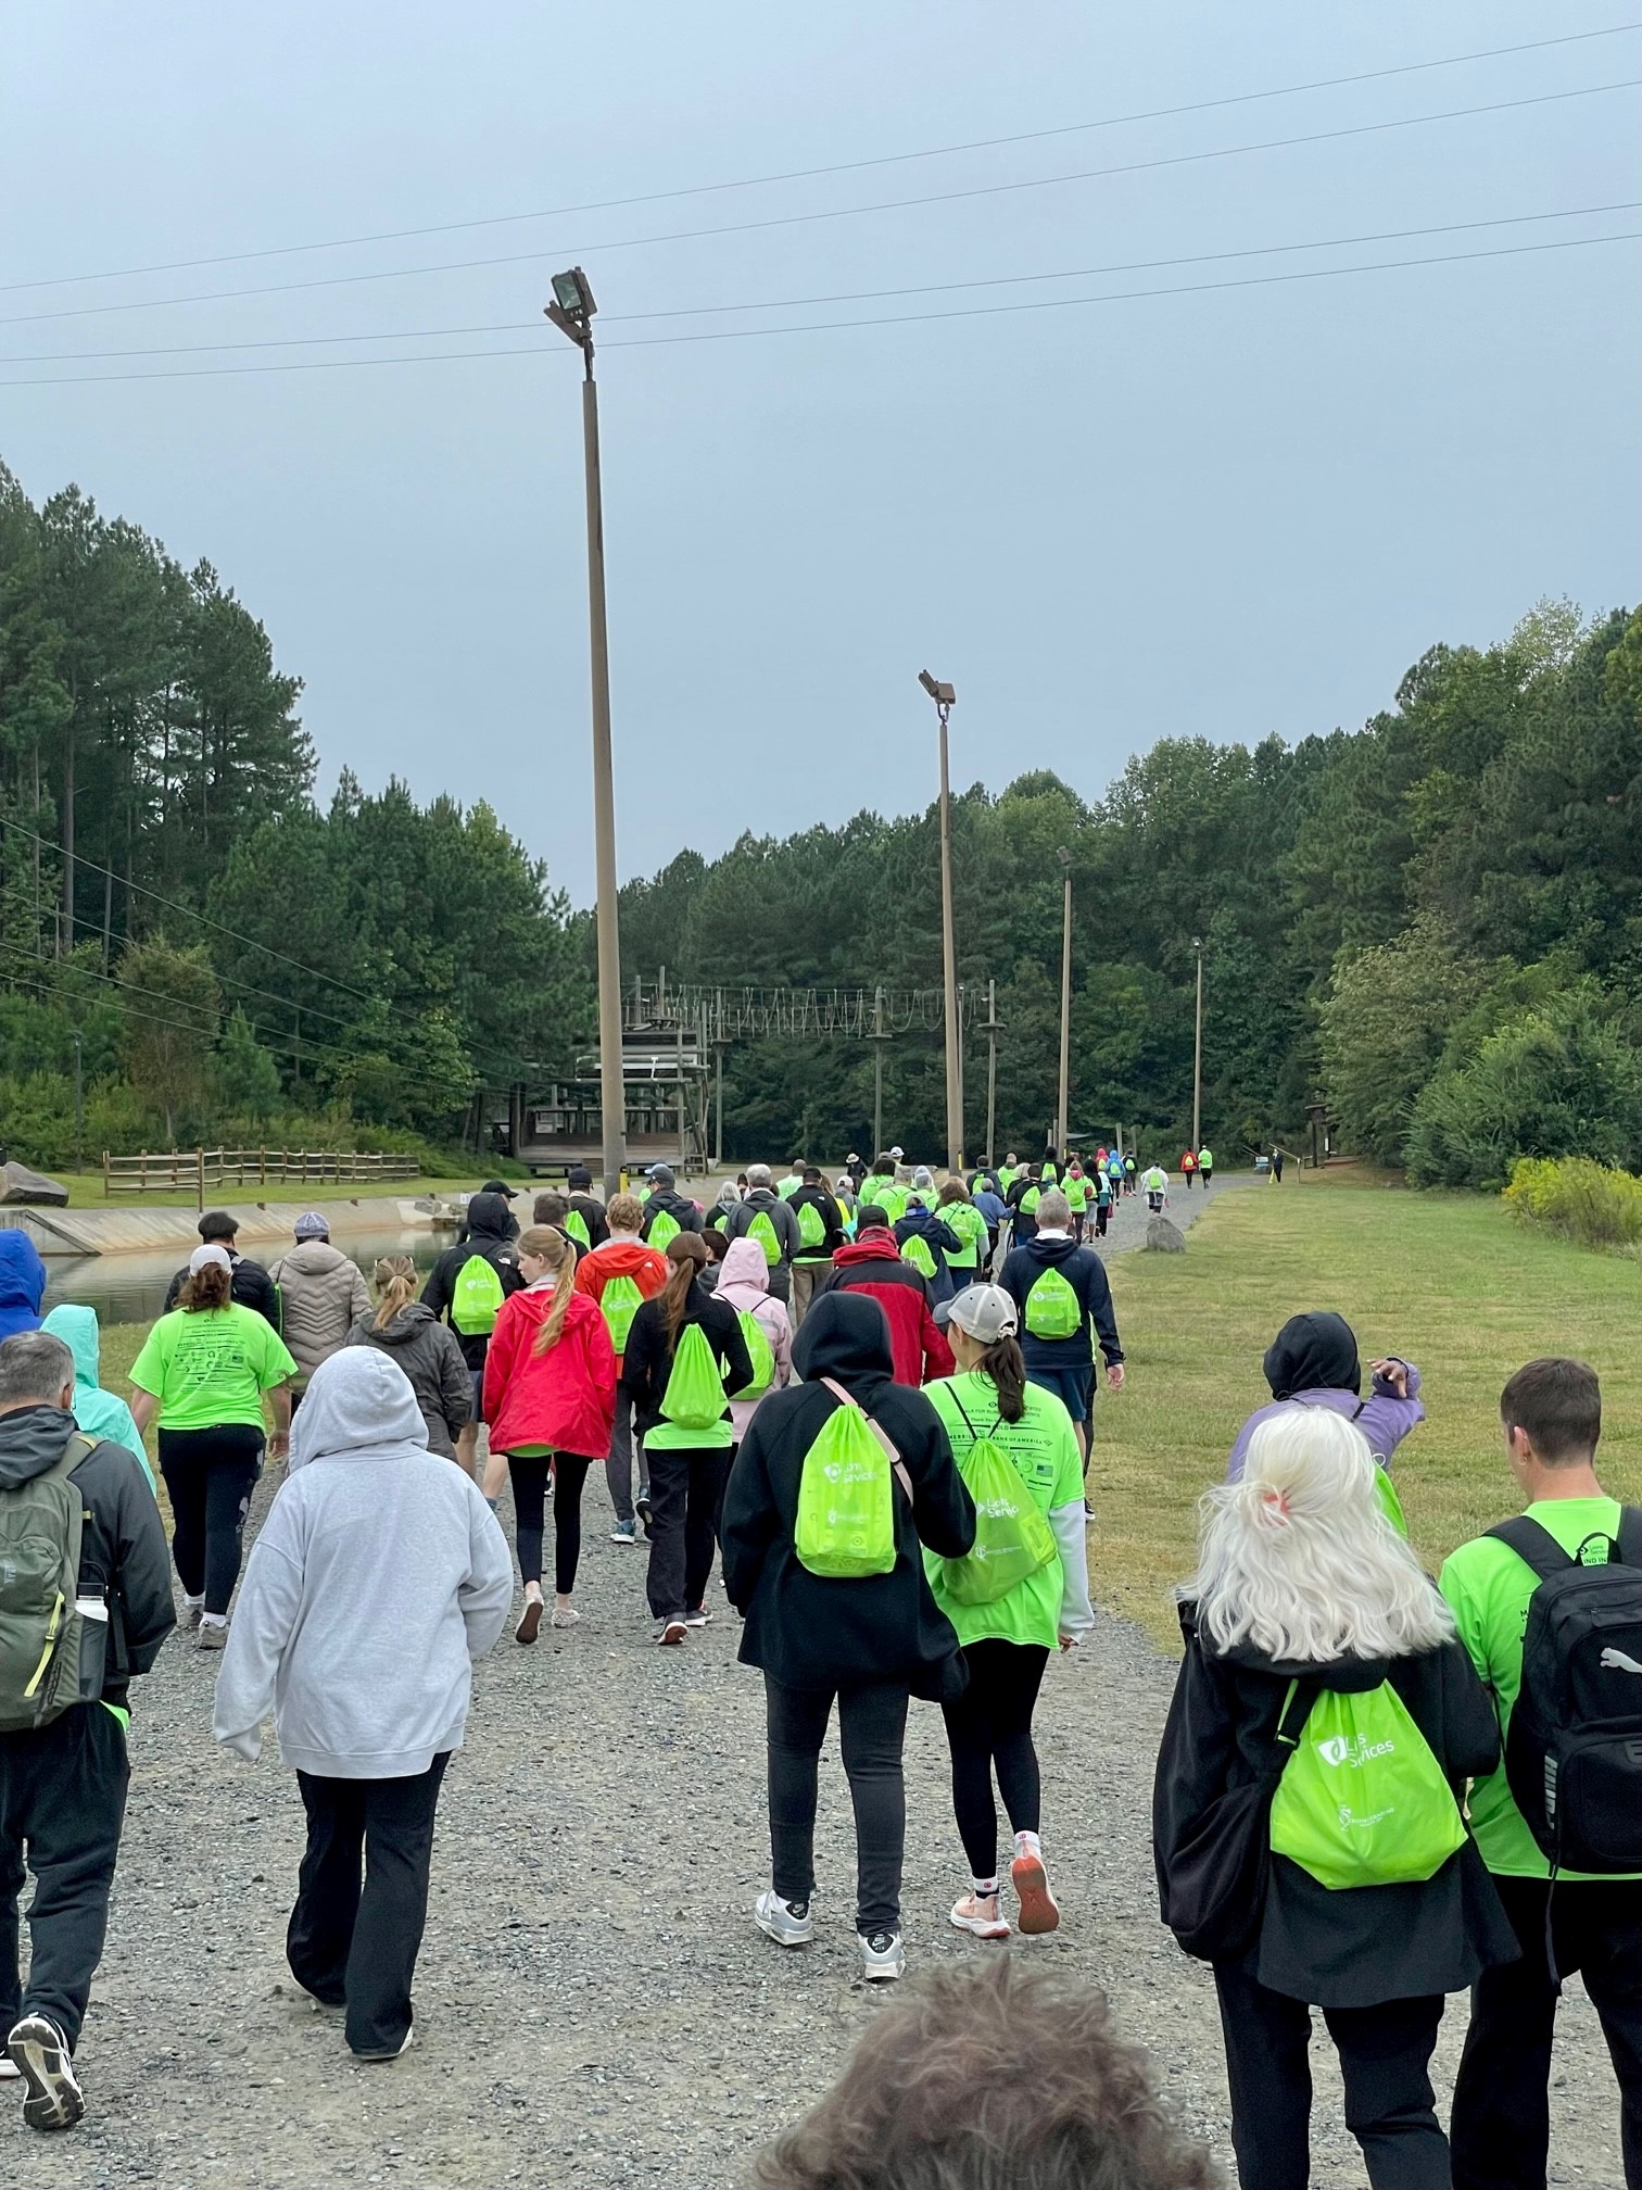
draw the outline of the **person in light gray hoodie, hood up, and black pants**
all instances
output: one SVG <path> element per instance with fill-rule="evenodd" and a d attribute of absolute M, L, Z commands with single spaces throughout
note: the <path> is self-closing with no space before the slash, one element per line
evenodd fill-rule
<path fill-rule="evenodd" d="M 374 1347 L 333 1353 L 245 1566 L 212 1732 L 256 1763 L 274 1715 L 309 1820 L 287 1960 L 346 2008 L 361 2061 L 412 2043 L 433 1811 L 510 1601 L 497 1518 L 427 1450 L 405 1373 Z"/>

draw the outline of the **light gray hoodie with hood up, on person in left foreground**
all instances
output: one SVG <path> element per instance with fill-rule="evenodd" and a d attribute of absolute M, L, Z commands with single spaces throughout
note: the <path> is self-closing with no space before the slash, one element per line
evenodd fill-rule
<path fill-rule="evenodd" d="M 291 1472 L 245 1564 L 212 1732 L 322 1778 L 409 1778 L 462 1748 L 473 1660 L 512 1564 L 477 1485 L 427 1450 L 403 1371 L 344 1347 L 313 1373 Z"/>

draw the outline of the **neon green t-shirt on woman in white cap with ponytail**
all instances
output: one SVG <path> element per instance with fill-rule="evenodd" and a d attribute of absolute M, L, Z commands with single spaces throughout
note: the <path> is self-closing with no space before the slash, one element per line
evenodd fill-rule
<path fill-rule="evenodd" d="M 1020 1421 L 998 1421 L 998 1388 L 979 1369 L 926 1384 L 924 1397 L 933 1402 L 946 1426 L 959 1472 L 963 1472 L 974 1439 L 990 1437 L 1020 1469 L 1020 1480 L 1031 1491 L 1040 1513 L 1053 1513 L 1055 1507 L 1064 1505 L 1084 1505 L 1084 1454 L 1077 1450 L 1073 1417 L 1053 1393 L 1027 1384 L 1027 1413 Z M 968 1424 L 963 1415 L 970 1417 Z M 1036 1575 L 1027 1575 L 990 1605 L 952 1603 L 941 1586 L 946 1561 L 933 1551 L 924 1553 L 924 1572 L 935 1603 L 957 1627 L 959 1642 L 996 1638 L 1055 1649 L 1064 1592 L 1060 1559 L 1053 1566 L 1040 1566 Z"/>

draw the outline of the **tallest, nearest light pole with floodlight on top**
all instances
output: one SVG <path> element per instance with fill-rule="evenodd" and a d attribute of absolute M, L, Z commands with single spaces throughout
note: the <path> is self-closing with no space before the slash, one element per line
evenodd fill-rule
<path fill-rule="evenodd" d="M 598 1115 L 604 1143 L 604 1198 L 626 1167 L 626 1088 L 622 1084 L 622 935 L 615 918 L 615 775 L 611 769 L 611 642 L 604 624 L 604 493 L 598 469 L 598 383 L 593 381 L 593 287 L 580 267 L 554 274 L 545 307 L 560 335 L 582 353 L 582 466 L 587 473 L 587 633 L 593 670 L 593 872 L 598 880 Z"/>

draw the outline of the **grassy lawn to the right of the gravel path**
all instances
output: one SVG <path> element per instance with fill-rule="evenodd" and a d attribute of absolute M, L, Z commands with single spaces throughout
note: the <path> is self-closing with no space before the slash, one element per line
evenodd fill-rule
<path fill-rule="evenodd" d="M 1195 1505 L 1222 1480 L 1239 1424 L 1270 1393 L 1261 1356 L 1279 1325 L 1338 1310 L 1362 1358 L 1403 1353 L 1423 1375 L 1423 1421 L 1397 1454 L 1421 1555 L 1513 1509 L 1498 1402 L 1537 1353 L 1574 1353 L 1603 1378 L 1600 1467 L 1642 1500 L 1638 1266 L 1522 1231 L 1484 1198 L 1395 1194 L 1307 1174 L 1298 1194 L 1224 1196 L 1184 1255 L 1117 1255 L 1112 1292 L 1128 1386 L 1097 1406 L 1090 1581 L 1097 1603 L 1176 1647 L 1169 1586 L 1191 1572 Z"/>

